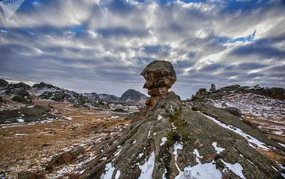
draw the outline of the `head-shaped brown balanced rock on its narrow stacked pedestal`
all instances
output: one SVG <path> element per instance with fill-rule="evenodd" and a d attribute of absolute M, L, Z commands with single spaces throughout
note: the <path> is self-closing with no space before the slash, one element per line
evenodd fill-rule
<path fill-rule="evenodd" d="M 177 80 L 175 70 L 169 61 L 152 61 L 141 75 L 145 78 L 143 88 L 147 88 L 147 93 L 151 96 L 145 102 L 147 109 L 152 108 L 161 98 L 167 98 L 168 89 Z"/>

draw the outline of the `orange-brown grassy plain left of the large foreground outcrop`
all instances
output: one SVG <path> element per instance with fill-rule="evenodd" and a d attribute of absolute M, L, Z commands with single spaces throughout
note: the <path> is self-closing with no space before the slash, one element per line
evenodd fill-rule
<path fill-rule="evenodd" d="M 73 112 L 61 116 L 72 120 L 0 128 L 0 178 L 16 178 L 21 170 L 44 170 L 54 155 L 76 146 L 87 148 L 94 140 L 108 137 L 115 126 L 130 123 L 122 118 L 106 118 L 108 113 Z"/>

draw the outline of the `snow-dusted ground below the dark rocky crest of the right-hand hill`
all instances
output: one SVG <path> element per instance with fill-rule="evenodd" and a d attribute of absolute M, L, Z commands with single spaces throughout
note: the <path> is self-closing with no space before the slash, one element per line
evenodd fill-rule
<path fill-rule="evenodd" d="M 274 135 L 285 136 L 285 101 L 254 93 L 233 93 L 209 101 L 217 108 L 239 108 L 244 118 L 256 121 L 257 127 Z M 264 121 L 264 122 L 262 122 Z"/>

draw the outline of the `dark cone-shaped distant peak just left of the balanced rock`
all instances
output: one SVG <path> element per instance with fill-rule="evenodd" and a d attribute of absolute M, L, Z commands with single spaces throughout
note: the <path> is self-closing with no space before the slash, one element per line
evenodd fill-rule
<path fill-rule="evenodd" d="M 133 104 L 144 104 L 147 100 L 147 96 L 135 91 L 134 89 L 128 89 L 120 96 L 119 102 L 121 103 L 133 103 Z"/>

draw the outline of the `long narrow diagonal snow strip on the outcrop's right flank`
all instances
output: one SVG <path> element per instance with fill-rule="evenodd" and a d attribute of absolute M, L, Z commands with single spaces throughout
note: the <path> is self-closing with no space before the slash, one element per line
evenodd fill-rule
<path fill-rule="evenodd" d="M 270 150 L 270 148 L 266 147 L 265 143 L 261 143 L 259 140 L 257 140 L 256 138 L 252 137 L 251 135 L 248 135 L 244 132 L 242 132 L 242 130 L 240 130 L 239 128 L 234 128 L 233 126 L 227 126 L 224 123 L 221 123 L 220 121 L 217 121 L 215 118 L 212 118 L 210 116 L 204 115 L 203 113 L 201 113 L 203 116 L 211 119 L 212 121 L 214 121 L 215 123 L 219 124 L 219 126 L 222 126 L 223 128 L 227 128 L 231 131 L 234 131 L 234 133 L 237 133 L 239 135 L 241 135 L 242 137 L 246 138 L 247 141 L 249 142 L 249 145 L 252 148 L 256 148 L 254 145 L 252 145 L 252 143 L 254 143 L 255 145 L 257 145 L 257 148 L 261 148 L 262 150 Z"/>

